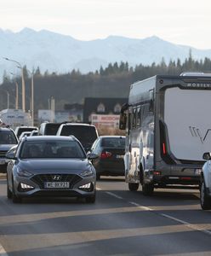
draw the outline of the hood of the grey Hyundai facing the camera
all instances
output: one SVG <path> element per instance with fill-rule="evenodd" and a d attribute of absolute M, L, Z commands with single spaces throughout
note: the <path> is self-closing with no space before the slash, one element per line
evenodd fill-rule
<path fill-rule="evenodd" d="M 80 173 L 92 167 L 87 159 L 36 159 L 36 160 L 20 160 L 18 166 L 22 170 L 32 173 Z"/>

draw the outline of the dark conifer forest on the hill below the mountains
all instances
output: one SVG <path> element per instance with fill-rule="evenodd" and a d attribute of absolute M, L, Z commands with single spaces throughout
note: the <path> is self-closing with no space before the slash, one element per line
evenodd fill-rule
<path fill-rule="evenodd" d="M 31 74 L 24 68 L 26 80 L 26 109 L 30 109 L 31 102 Z M 179 75 L 182 72 L 210 73 L 211 60 L 194 60 L 189 56 L 184 62 L 180 59 L 169 61 L 163 59 L 160 63 L 151 65 L 136 65 L 129 67 L 128 62 L 109 63 L 107 67 L 100 67 L 95 72 L 87 74 L 79 70 L 70 73 L 41 73 L 39 67 L 34 70 L 34 108 L 48 109 L 50 97 L 54 97 L 55 109 L 63 110 L 65 104 L 81 103 L 85 97 L 121 97 L 127 98 L 129 85 L 156 74 Z M 15 86 L 19 88 L 19 108 L 21 108 L 21 78 L 11 78 L 3 73 L 3 84 L 0 86 L 0 109 L 7 108 L 5 91 L 9 92 L 9 108 L 14 108 Z M 4 91 L 3 91 L 4 90 Z"/>

